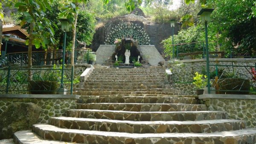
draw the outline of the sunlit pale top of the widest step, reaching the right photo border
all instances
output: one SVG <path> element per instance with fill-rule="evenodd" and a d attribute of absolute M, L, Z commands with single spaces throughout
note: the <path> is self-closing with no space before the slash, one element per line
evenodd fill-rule
<path fill-rule="evenodd" d="M 231 137 L 244 136 L 244 135 L 256 135 L 256 128 L 243 129 L 243 130 L 233 130 L 228 132 L 213 132 L 213 133 L 126 133 L 126 132 L 103 132 L 103 131 L 93 131 L 93 130 L 73 130 L 73 129 L 63 129 L 55 127 L 49 124 L 34 124 L 33 131 L 39 130 L 44 131 L 47 135 L 51 132 L 58 133 L 69 133 L 71 135 L 90 135 L 90 136 L 103 136 L 103 137 L 115 137 L 115 138 L 210 138 L 210 137 Z M 40 132 L 43 134 L 43 132 Z M 41 135 L 40 135 L 41 136 Z M 50 134 L 49 134 L 50 136 Z"/>

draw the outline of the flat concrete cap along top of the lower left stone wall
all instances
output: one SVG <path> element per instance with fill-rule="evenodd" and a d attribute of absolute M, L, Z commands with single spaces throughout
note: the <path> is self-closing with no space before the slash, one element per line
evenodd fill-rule
<path fill-rule="evenodd" d="M 0 94 L 0 98 L 70 98 L 79 99 L 79 95 L 33 95 L 33 94 Z"/>

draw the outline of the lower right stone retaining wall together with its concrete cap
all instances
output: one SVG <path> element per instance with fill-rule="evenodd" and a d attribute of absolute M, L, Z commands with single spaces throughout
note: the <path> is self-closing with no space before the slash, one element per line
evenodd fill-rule
<path fill-rule="evenodd" d="M 208 110 L 226 111 L 230 119 L 244 120 L 247 127 L 256 127 L 256 97 L 254 95 L 199 95 Z"/>

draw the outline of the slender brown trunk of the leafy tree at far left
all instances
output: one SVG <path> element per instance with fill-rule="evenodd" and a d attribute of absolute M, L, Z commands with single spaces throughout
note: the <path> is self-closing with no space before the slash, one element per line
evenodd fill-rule
<path fill-rule="evenodd" d="M 28 48 L 28 68 L 29 68 L 29 77 L 28 81 L 33 80 L 33 72 L 31 70 L 32 68 L 32 40 L 33 40 L 33 28 L 34 28 L 34 22 L 30 23 L 30 32 L 29 32 L 29 48 Z"/>

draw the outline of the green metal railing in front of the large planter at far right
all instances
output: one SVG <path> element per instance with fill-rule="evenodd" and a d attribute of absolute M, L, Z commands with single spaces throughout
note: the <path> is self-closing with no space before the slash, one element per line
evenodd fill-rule
<path fill-rule="evenodd" d="M 253 69 L 256 62 L 230 62 L 231 64 L 209 64 L 211 86 L 217 94 L 256 94 Z M 208 86 L 210 89 L 210 86 Z"/>

